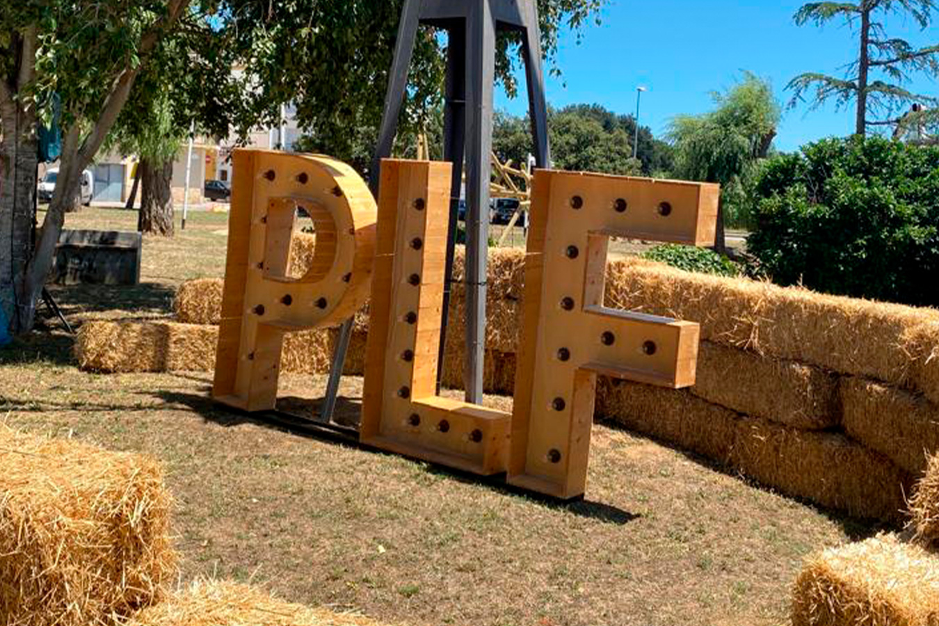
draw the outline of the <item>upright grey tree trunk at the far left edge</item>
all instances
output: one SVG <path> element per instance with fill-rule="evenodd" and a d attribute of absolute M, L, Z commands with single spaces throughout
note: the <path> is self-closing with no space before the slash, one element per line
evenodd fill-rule
<path fill-rule="evenodd" d="M 23 278 L 36 220 L 38 139 L 35 115 L 19 104 L 5 102 L 0 117 L 0 308 L 8 321 L 4 330 L 19 334 L 28 319 Z"/>

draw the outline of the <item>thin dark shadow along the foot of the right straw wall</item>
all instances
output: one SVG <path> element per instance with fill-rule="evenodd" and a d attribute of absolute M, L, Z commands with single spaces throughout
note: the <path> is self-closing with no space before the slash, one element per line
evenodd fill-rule
<path fill-rule="evenodd" d="M 779 491 L 775 487 L 762 484 L 761 482 L 758 482 L 752 478 L 749 478 L 741 474 L 739 471 L 737 471 L 731 466 L 725 466 L 721 463 L 714 461 L 713 459 L 709 459 L 705 456 L 701 456 L 697 452 L 693 452 L 691 450 L 686 450 L 685 448 L 681 448 L 680 446 L 677 446 L 673 442 L 670 442 L 666 439 L 660 439 L 658 437 L 655 437 L 654 435 L 646 435 L 644 433 L 639 433 L 638 431 L 632 431 L 624 427 L 623 424 L 616 422 L 615 420 L 608 420 L 606 418 L 602 420 L 598 419 L 596 420 L 595 423 L 603 424 L 604 426 L 607 426 L 608 428 L 612 430 L 619 430 L 625 433 L 629 433 L 630 435 L 637 436 L 640 439 L 647 439 L 649 441 L 653 441 L 655 444 L 662 446 L 663 448 L 668 448 L 669 450 L 674 450 L 675 452 L 678 452 L 679 454 L 684 456 L 688 461 L 691 461 L 692 463 L 696 465 L 707 467 L 708 469 L 716 471 L 720 474 L 724 474 L 725 476 L 730 476 L 731 478 L 736 479 L 738 481 L 743 481 L 747 483 L 747 485 L 753 489 L 758 489 L 763 492 L 776 494 L 777 496 L 781 496 L 786 499 L 793 500 L 793 502 L 798 502 L 802 506 L 808 509 L 811 509 L 813 511 L 816 511 L 821 515 L 824 515 L 824 517 L 828 518 L 834 524 L 838 525 L 839 528 L 841 529 L 841 532 L 843 532 L 853 542 L 859 542 L 865 539 L 869 539 L 870 537 L 873 537 L 877 533 L 884 531 L 884 530 L 897 530 L 898 529 L 898 525 L 896 524 L 891 524 L 889 522 L 884 522 L 882 520 L 876 520 L 876 519 L 862 519 L 862 518 L 852 517 L 848 513 L 823 507 L 815 502 L 812 502 L 811 500 L 808 500 L 805 497 L 790 496 L 789 494 Z"/>

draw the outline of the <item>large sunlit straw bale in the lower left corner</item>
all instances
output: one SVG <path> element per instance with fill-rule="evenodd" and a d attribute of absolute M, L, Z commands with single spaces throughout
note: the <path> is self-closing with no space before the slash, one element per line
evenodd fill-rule
<path fill-rule="evenodd" d="M 158 600 L 176 572 L 162 466 L 0 427 L 0 616 L 87 626 Z"/>

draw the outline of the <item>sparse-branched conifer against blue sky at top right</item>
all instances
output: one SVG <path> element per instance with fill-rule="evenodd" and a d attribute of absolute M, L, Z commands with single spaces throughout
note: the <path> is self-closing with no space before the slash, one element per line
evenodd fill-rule
<path fill-rule="evenodd" d="M 811 2 L 796 12 L 795 23 L 823 25 L 845 23 L 857 35 L 858 54 L 842 77 L 818 72 L 799 74 L 789 83 L 793 90 L 790 106 L 808 94 L 811 108 L 829 99 L 841 108 L 854 102 L 854 132 L 867 133 L 870 127 L 896 126 L 903 108 L 911 104 L 939 106 L 939 99 L 916 94 L 905 85 L 914 73 L 939 77 L 939 43 L 915 47 L 901 38 L 890 37 L 885 26 L 889 15 L 909 18 L 924 31 L 932 22 L 935 0 L 860 0 L 859 2 Z M 933 31 L 934 32 L 934 31 Z M 924 110 L 906 118 L 907 124 L 939 123 L 935 112 Z"/>

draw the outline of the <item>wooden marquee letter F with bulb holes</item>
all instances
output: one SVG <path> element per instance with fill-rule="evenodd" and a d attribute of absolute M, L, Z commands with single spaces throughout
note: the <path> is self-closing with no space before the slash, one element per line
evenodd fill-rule
<path fill-rule="evenodd" d="M 694 384 L 699 326 L 603 306 L 609 237 L 713 244 L 718 187 L 539 171 L 531 200 L 509 482 L 586 488 L 596 374 Z"/>

